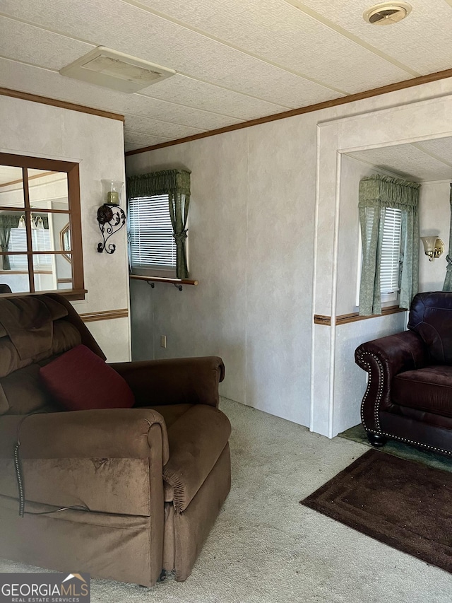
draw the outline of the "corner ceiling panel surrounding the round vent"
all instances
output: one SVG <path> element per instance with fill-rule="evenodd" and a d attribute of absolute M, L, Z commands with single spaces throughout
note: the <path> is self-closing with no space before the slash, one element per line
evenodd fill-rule
<path fill-rule="evenodd" d="M 362 13 L 377 4 L 369 0 L 307 0 L 322 16 L 421 74 L 452 66 L 452 6 L 444 0 L 409 0 L 410 15 L 397 25 L 366 23 Z"/>

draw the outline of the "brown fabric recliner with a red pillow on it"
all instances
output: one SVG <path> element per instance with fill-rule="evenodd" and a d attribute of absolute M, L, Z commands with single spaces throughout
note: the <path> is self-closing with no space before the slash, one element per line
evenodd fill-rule
<path fill-rule="evenodd" d="M 185 580 L 230 491 L 224 365 L 114 363 L 133 408 L 62 411 L 39 370 L 78 344 L 105 359 L 60 295 L 0 299 L 0 556 L 145 586 L 162 570 Z"/>

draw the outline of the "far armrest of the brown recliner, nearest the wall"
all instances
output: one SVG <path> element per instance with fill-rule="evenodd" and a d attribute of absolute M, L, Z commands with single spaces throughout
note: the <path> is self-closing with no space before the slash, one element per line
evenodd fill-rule
<path fill-rule="evenodd" d="M 129 384 L 135 406 L 208 404 L 218 406 L 225 365 L 218 356 L 110 364 Z"/>

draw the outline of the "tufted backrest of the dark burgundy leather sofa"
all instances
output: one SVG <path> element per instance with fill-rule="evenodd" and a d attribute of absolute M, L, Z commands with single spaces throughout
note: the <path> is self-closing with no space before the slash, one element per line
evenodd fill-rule
<path fill-rule="evenodd" d="M 452 365 L 452 292 L 417 293 L 408 329 L 424 341 L 432 364 Z"/>

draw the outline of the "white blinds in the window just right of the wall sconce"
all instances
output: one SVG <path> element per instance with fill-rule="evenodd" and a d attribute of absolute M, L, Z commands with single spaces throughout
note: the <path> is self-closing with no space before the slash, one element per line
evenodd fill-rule
<path fill-rule="evenodd" d="M 129 199 L 129 248 L 132 269 L 176 269 L 167 194 Z"/>

